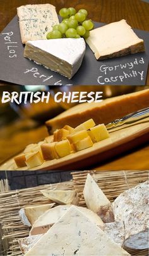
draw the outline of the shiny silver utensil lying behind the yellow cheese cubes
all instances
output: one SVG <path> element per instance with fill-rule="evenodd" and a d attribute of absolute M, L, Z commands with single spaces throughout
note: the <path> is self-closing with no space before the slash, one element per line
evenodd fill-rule
<path fill-rule="evenodd" d="M 144 108 L 143 110 L 138 110 L 137 112 L 133 112 L 129 115 L 126 115 L 125 117 L 116 119 L 113 122 L 107 124 L 106 127 L 108 130 L 110 130 L 110 129 L 114 129 L 114 128 L 119 127 L 124 124 L 126 124 L 126 125 L 133 124 L 134 122 L 143 120 L 147 117 L 149 117 L 149 108 Z"/>

